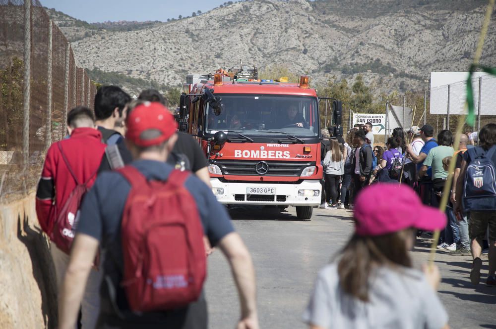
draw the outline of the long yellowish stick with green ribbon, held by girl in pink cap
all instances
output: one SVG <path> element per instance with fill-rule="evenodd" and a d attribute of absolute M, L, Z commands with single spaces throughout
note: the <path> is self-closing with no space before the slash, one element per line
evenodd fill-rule
<path fill-rule="evenodd" d="M 479 36 L 479 42 L 477 44 L 477 49 L 474 54 L 474 64 L 479 64 L 479 60 L 482 54 L 482 48 L 484 46 L 484 40 L 486 39 L 486 35 L 488 34 L 488 27 L 491 21 L 491 14 L 493 13 L 494 5 L 495 5 L 495 0 L 489 0 L 488 7 L 486 9 L 486 15 L 484 16 L 484 23 L 482 25 L 481 34 Z M 465 112 L 467 111 L 467 108 L 468 108 L 467 102 L 465 102 Z M 455 135 L 455 141 L 453 142 L 453 149 L 458 149 L 458 146 L 460 144 L 460 135 L 463 132 L 464 123 L 465 123 L 465 115 L 461 115 L 458 118 L 458 125 L 456 127 L 456 135 Z M 453 170 L 455 169 L 455 163 L 456 161 L 454 161 L 453 159 L 449 162 L 448 173 L 453 172 Z M 439 204 L 439 211 L 441 211 L 442 213 L 445 212 L 446 205 L 448 204 L 448 196 L 449 196 L 449 191 L 451 189 L 452 181 L 453 181 L 453 175 L 448 175 L 448 178 L 446 179 L 446 183 L 444 184 L 444 189 L 442 191 L 441 202 Z M 437 239 L 439 238 L 439 233 L 440 233 L 439 230 L 434 231 L 433 243 L 431 245 L 431 253 L 429 255 L 429 266 L 434 265 L 436 245 L 437 245 Z"/>

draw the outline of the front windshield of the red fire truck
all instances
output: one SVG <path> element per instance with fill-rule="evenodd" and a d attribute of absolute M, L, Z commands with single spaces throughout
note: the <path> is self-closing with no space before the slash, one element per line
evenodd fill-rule
<path fill-rule="evenodd" d="M 217 95 L 217 94 L 216 94 Z M 294 136 L 318 136 L 317 99 L 310 96 L 266 94 L 218 94 L 222 112 L 206 111 L 206 132 L 231 130 L 245 135 L 284 132 Z"/>

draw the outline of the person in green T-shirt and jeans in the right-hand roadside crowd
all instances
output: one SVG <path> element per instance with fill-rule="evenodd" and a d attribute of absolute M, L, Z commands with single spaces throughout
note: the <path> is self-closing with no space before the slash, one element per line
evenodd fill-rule
<path fill-rule="evenodd" d="M 433 194 L 431 205 L 436 208 L 439 207 L 444 184 L 446 184 L 446 180 L 448 179 L 448 172 L 444 169 L 442 160 L 445 157 L 453 156 L 453 135 L 449 130 L 441 130 L 437 135 L 437 142 L 439 143 L 439 146 L 436 146 L 429 151 L 418 174 L 419 177 L 422 177 L 429 167 L 432 167 Z M 446 208 L 448 219 L 451 217 L 449 212 L 450 210 Z M 453 251 L 457 248 L 457 244 L 460 241 L 460 235 L 458 225 L 453 218 L 448 221 L 448 224 L 449 225 L 446 226 L 445 230 L 440 235 L 437 249 Z"/>

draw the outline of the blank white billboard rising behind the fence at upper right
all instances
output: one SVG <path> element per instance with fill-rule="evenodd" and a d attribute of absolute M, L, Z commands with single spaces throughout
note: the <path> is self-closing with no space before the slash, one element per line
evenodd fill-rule
<path fill-rule="evenodd" d="M 465 101 L 466 79 L 468 72 L 431 72 L 431 114 L 448 114 L 448 86 L 449 86 L 449 114 L 466 114 Z M 472 92 L 474 94 L 475 113 L 481 115 L 496 114 L 496 77 L 484 72 L 474 72 L 472 75 Z"/>

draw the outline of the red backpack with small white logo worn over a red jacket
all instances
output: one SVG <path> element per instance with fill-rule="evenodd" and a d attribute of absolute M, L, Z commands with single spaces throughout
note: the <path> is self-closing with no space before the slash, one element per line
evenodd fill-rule
<path fill-rule="evenodd" d="M 91 175 L 91 177 L 84 183 L 80 183 L 72 170 L 72 167 L 69 164 L 69 161 L 65 157 L 64 152 L 62 151 L 62 145 L 60 142 L 57 143 L 59 146 L 59 150 L 62 155 L 62 159 L 65 162 L 65 166 L 67 170 L 70 172 L 74 181 L 76 181 L 76 187 L 69 194 L 67 200 L 65 200 L 62 209 L 56 210 L 55 222 L 53 224 L 52 230 L 50 230 L 49 237 L 54 243 L 57 245 L 59 249 L 61 249 L 65 253 L 70 252 L 70 246 L 72 244 L 72 240 L 74 239 L 74 222 L 78 216 L 79 208 L 81 206 L 82 199 L 84 194 L 89 190 L 89 183 L 96 176 L 98 171 L 95 170 L 95 173 Z"/>

